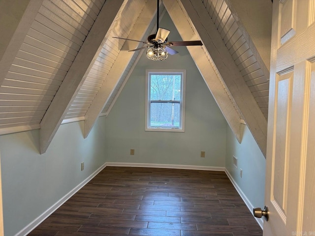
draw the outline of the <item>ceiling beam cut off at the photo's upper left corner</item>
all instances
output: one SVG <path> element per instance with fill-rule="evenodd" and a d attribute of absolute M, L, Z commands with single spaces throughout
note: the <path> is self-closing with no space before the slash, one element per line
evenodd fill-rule
<path fill-rule="evenodd" d="M 29 3 L 28 1 L 15 0 L 0 3 L 0 32 L 2 33 L 0 42 L 0 86 L 21 48 L 42 2 L 43 0 L 30 0 Z M 26 9 L 25 3 L 28 3 Z M 14 11 L 10 11 L 11 8 L 14 8 Z M 16 27 L 15 30 L 14 27 Z"/>

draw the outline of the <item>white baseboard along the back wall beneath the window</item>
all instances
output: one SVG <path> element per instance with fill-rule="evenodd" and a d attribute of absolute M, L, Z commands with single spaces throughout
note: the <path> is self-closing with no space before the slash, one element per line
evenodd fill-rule
<path fill-rule="evenodd" d="M 168 164 L 148 164 L 148 163 L 106 162 L 106 166 L 148 167 L 148 168 L 186 169 L 186 170 L 202 170 L 202 171 L 225 171 L 224 167 L 215 167 L 215 166 L 189 166 L 189 165 L 168 165 Z"/>

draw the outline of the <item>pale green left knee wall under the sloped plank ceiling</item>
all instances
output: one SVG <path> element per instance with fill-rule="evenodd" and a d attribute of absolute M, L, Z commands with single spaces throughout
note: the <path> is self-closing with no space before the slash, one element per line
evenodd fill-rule
<path fill-rule="evenodd" d="M 105 123 L 98 118 L 87 139 L 83 121 L 61 125 L 42 155 L 38 130 L 0 136 L 5 236 L 14 236 L 105 163 Z"/>

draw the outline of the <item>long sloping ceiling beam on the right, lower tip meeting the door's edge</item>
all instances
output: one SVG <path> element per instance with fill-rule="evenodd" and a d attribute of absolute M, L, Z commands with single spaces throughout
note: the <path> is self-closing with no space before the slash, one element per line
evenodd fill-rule
<path fill-rule="evenodd" d="M 266 156 L 267 120 L 228 52 L 201 0 L 181 0 L 205 48 L 244 117 L 252 136 Z"/>

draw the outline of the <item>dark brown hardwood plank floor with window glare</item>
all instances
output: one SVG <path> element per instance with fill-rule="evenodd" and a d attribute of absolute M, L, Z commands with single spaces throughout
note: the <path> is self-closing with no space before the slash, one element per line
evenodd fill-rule
<path fill-rule="evenodd" d="M 29 236 L 262 236 L 224 172 L 106 167 Z"/>

